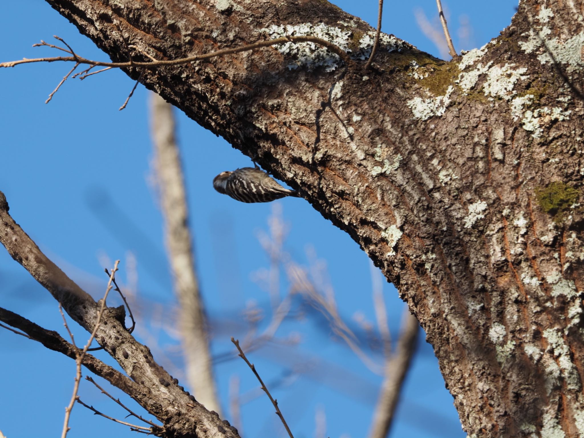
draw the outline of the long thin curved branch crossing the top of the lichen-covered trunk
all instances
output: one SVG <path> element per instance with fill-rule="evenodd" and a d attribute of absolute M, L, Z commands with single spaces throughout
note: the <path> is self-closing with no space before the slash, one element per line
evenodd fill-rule
<path fill-rule="evenodd" d="M 194 55 L 187 58 L 179 58 L 177 60 L 162 60 L 162 61 L 151 61 L 151 62 L 135 62 L 135 61 L 128 61 L 128 62 L 102 62 L 102 61 L 92 61 L 86 58 L 80 57 L 78 55 L 75 56 L 59 56 L 59 57 L 51 57 L 51 58 L 23 58 L 22 60 L 18 61 L 8 61 L 8 62 L 0 62 L 1 67 L 15 67 L 19 64 L 29 64 L 30 62 L 55 62 L 55 61 L 65 61 L 65 62 L 78 62 L 79 64 L 89 64 L 89 65 L 96 65 L 101 67 L 112 67 L 112 68 L 128 68 L 128 67 L 144 67 L 144 68 L 155 68 L 160 67 L 161 65 L 180 65 L 180 64 L 188 64 L 189 62 L 193 61 L 201 61 L 201 60 L 208 60 L 211 58 L 215 58 L 218 56 L 223 55 L 231 55 L 235 53 L 241 53 L 249 50 L 254 50 L 256 48 L 261 47 L 270 47 L 276 44 L 284 44 L 284 43 L 317 43 L 321 46 L 324 46 L 331 50 L 333 53 L 337 54 L 347 65 L 353 65 L 353 60 L 349 57 L 349 55 L 339 46 L 331 43 L 330 41 L 323 40 L 321 38 L 317 38 L 310 35 L 304 36 L 286 36 L 280 37 L 273 40 L 267 41 L 257 41 L 256 43 L 248 44 L 247 46 L 242 47 L 234 47 L 234 48 L 225 48 L 223 50 L 217 50 L 211 53 L 205 53 L 202 55 Z M 63 48 L 60 48 L 64 50 Z"/>

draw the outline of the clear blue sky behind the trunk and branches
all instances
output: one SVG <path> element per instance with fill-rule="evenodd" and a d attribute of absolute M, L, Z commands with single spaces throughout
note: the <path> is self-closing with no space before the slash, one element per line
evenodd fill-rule
<path fill-rule="evenodd" d="M 341 8 L 375 23 L 377 4 L 337 1 Z M 484 2 L 445 0 L 451 34 L 457 50 L 482 46 L 507 26 L 516 0 Z M 421 12 L 420 12 L 421 11 Z M 439 56 L 440 51 L 420 31 L 423 15 L 434 26 L 432 0 L 386 1 L 383 30 Z M 77 53 L 107 60 L 91 41 L 81 36 L 53 9 L 40 0 L 3 2 L 0 6 L 0 61 L 54 55 L 47 48 L 32 48 L 41 39 L 51 42 L 57 34 Z M 9 201 L 13 218 L 40 248 L 94 297 L 103 294 L 103 267 L 121 259 L 119 279 L 128 278 L 128 260 L 137 263 L 137 331 L 142 342 L 171 346 L 170 325 L 174 297 L 165 259 L 162 218 L 152 186 L 152 145 L 148 127 L 148 92 L 138 86 L 127 108 L 118 111 L 133 81 L 120 71 L 108 71 L 85 81 L 65 83 L 45 105 L 50 93 L 71 68 L 64 64 L 22 65 L 0 70 L 0 190 Z M 197 270 L 207 312 L 213 326 L 213 353 L 232 350 L 231 336 L 247 332 L 242 319 L 246 306 L 255 303 L 269 319 L 269 299 L 257 281 L 269 259 L 258 241 L 267 230 L 270 204 L 242 204 L 214 192 L 213 176 L 224 170 L 250 165 L 222 138 L 199 127 L 184 114 L 178 116 L 178 139 L 185 166 Z M 371 299 L 369 260 L 347 234 L 333 227 L 303 199 L 277 201 L 289 232 L 286 251 L 301 265 L 308 265 L 307 248 L 325 260 L 335 290 L 339 312 L 360 331 L 353 320 L 360 311 L 375 321 Z M 128 257 L 130 259 L 128 259 Z M 280 281 L 281 287 L 287 283 Z M 0 305 L 63 335 L 61 317 L 53 298 L 2 249 L 0 251 Z M 390 328 L 397 336 L 402 302 L 397 291 L 384 282 Z M 115 300 L 112 300 L 111 304 Z M 158 304 L 157 304 L 158 303 Z M 266 321 L 260 322 L 260 328 Z M 262 325 L 263 324 L 263 325 Z M 77 330 L 78 342 L 86 334 Z M 324 412 L 326 436 L 366 436 L 381 377 L 371 373 L 311 312 L 284 324 L 280 338 L 301 339 L 297 347 L 273 345 L 250 354 L 298 437 L 315 436 L 315 415 Z M 64 407 L 71 397 L 74 361 L 0 329 L 0 430 L 8 438 L 55 436 L 60 433 Z M 367 346 L 364 345 L 364 348 Z M 162 350 L 162 347 L 161 347 Z M 370 352 L 370 350 L 367 350 Z M 180 369 L 172 351 L 155 359 Z M 370 352 L 374 360 L 381 360 Z M 99 354 L 98 354 L 99 356 Z M 103 357 L 107 360 L 106 357 Z M 110 363 L 111 361 L 108 360 Z M 310 363 L 300 374 L 293 363 Z M 180 372 L 180 371 L 179 371 Z M 215 375 L 226 418 L 228 385 L 241 379 L 241 392 L 253 398 L 258 386 L 239 360 L 222 361 Z M 107 383 L 104 383 L 109 388 Z M 82 383 L 81 398 L 112 416 L 123 412 L 89 383 Z M 120 394 L 112 389 L 112 394 Z M 133 408 L 136 406 L 129 402 Z M 137 408 L 139 409 L 139 408 Z M 273 408 L 264 397 L 242 405 L 246 437 L 283 436 Z M 321 415 L 319 413 L 318 415 Z M 33 416 L 34 421 L 23 421 Z M 124 426 L 91 415 L 75 406 L 69 436 L 129 436 Z M 392 436 L 464 437 L 449 392 L 444 389 L 432 347 L 420 332 L 418 353 L 405 384 Z"/>

